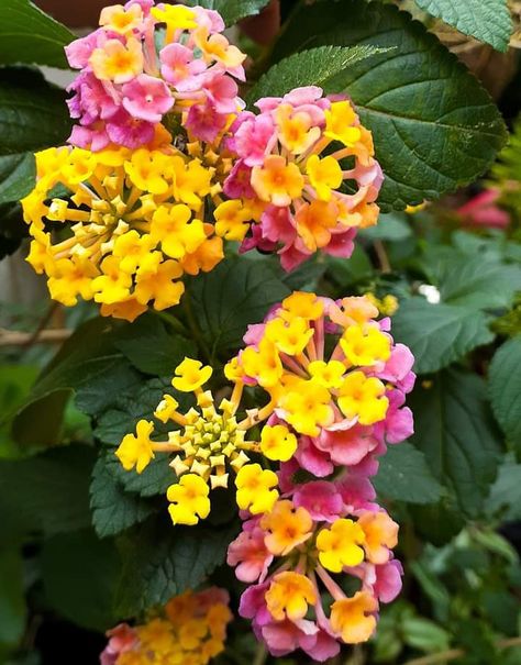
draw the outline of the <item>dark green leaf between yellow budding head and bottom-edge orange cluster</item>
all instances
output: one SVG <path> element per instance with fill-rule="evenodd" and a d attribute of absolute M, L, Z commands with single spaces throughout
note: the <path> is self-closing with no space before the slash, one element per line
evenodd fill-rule
<path fill-rule="evenodd" d="M 121 575 L 117 607 L 131 616 L 173 596 L 197 589 L 224 563 L 237 525 L 209 529 L 173 527 L 166 520 L 148 520 L 129 534 L 123 548 L 125 564 Z"/>

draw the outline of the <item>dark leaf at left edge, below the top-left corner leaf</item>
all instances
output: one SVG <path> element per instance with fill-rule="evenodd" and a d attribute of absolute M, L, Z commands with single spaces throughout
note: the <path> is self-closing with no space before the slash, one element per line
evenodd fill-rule
<path fill-rule="evenodd" d="M 2 49 L 0 9 L 0 53 Z M 65 93 L 35 70 L 0 68 L 0 203 L 16 201 L 34 187 L 33 152 L 65 142 L 70 119 Z"/>

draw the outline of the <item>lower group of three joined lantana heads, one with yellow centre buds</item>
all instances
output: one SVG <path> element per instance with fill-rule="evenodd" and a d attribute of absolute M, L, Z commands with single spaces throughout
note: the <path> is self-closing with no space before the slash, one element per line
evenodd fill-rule
<path fill-rule="evenodd" d="M 210 488 L 237 472 L 243 528 L 228 562 L 251 585 L 240 612 L 275 656 L 301 647 L 322 661 L 340 643 L 366 641 L 379 603 L 401 587 L 398 524 L 375 502 L 370 477 L 387 444 L 413 431 L 404 400 L 415 377 L 374 301 L 293 292 L 250 326 L 219 408 L 202 389 L 212 369 L 185 359 L 173 385 L 193 391 L 198 408 L 180 413 L 166 395 L 155 417 L 176 423 L 168 440 L 153 442 L 154 423 L 140 421 L 117 451 L 138 472 L 156 452 L 175 455 L 175 523 L 208 517 Z M 260 406 L 241 407 L 246 394 Z"/>

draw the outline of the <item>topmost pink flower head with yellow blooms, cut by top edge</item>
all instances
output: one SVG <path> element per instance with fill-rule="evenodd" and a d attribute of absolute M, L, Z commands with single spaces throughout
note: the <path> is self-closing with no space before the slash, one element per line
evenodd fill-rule
<path fill-rule="evenodd" d="M 146 145 L 165 117 L 213 142 L 243 106 L 245 54 L 222 34 L 215 11 L 130 0 L 107 7 L 100 27 L 66 48 L 80 75 L 69 88 L 70 142 L 99 151 Z"/>

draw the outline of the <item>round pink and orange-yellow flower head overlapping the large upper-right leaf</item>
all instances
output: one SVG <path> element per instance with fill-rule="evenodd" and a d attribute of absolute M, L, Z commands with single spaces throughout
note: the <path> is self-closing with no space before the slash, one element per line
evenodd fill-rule
<path fill-rule="evenodd" d="M 346 98 L 311 86 L 241 112 L 226 145 L 228 214 L 243 225 L 242 251 L 278 251 L 291 270 L 322 250 L 351 256 L 357 229 L 376 224 L 383 181 L 370 132 Z"/>

